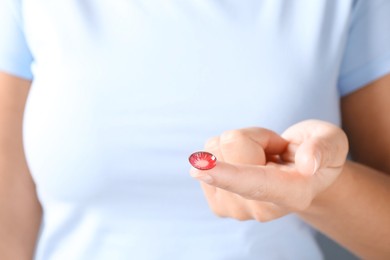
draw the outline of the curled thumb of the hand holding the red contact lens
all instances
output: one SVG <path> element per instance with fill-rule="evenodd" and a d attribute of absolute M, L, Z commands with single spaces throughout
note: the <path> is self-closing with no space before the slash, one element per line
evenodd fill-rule
<path fill-rule="evenodd" d="M 348 140 L 338 127 L 318 120 L 307 120 L 287 129 L 282 136 L 292 143 L 298 170 L 312 175 L 321 168 L 341 167 L 348 152 Z M 289 145 L 290 146 L 290 145 Z"/>

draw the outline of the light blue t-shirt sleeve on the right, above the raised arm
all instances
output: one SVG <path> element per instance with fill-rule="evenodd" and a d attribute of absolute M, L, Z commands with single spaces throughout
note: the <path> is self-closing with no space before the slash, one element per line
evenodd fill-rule
<path fill-rule="evenodd" d="M 345 96 L 390 72 L 390 0 L 356 0 L 338 86 Z"/>

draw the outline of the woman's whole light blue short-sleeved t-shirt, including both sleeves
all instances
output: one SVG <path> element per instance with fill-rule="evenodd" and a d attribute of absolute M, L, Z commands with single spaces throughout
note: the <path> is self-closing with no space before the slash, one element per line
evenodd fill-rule
<path fill-rule="evenodd" d="M 33 79 L 36 259 L 321 259 L 295 215 L 214 216 L 187 156 L 224 130 L 340 124 L 340 97 L 390 71 L 389 14 L 389 0 L 0 0 L 0 70 Z"/>

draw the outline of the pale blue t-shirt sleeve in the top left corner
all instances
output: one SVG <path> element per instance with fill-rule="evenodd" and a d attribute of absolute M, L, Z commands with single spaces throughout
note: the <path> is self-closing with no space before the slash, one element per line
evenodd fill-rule
<path fill-rule="evenodd" d="M 0 71 L 32 79 L 32 55 L 23 32 L 19 1 L 0 0 Z"/>

